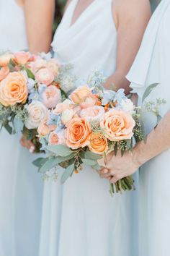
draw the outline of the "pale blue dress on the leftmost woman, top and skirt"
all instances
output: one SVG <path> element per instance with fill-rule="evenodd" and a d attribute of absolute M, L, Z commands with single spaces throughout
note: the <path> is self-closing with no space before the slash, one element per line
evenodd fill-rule
<path fill-rule="evenodd" d="M 0 0 L 0 35 L 0 52 L 28 48 L 24 13 L 14 0 Z M 39 243 L 42 182 L 19 138 L 0 132 L 1 256 L 35 256 Z"/>

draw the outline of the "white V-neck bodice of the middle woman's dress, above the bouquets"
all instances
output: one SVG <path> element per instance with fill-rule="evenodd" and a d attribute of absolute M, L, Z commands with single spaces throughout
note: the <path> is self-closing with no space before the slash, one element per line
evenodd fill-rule
<path fill-rule="evenodd" d="M 112 17 L 112 0 L 94 0 L 71 25 L 78 0 L 69 4 L 52 43 L 61 63 L 73 64 L 73 73 L 86 80 L 94 69 L 108 77 L 115 71 L 117 30 Z"/>

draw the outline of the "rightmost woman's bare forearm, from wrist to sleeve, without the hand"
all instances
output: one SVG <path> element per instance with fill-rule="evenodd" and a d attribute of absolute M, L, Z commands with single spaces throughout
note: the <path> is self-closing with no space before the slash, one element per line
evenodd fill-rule
<path fill-rule="evenodd" d="M 142 166 L 156 155 L 170 148 L 170 111 L 148 135 L 146 143 L 139 142 L 133 151 L 133 160 Z"/>

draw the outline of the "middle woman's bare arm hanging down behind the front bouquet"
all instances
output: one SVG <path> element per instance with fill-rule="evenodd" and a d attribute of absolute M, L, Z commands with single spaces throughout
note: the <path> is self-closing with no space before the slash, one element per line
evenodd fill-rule
<path fill-rule="evenodd" d="M 117 67 L 107 80 L 105 87 L 125 88 L 130 92 L 129 81 L 125 78 L 140 47 L 143 33 L 151 17 L 148 0 L 113 1 L 113 18 L 117 27 Z"/>

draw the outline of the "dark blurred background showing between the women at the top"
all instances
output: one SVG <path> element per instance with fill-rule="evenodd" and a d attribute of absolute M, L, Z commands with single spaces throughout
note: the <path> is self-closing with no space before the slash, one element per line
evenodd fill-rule
<path fill-rule="evenodd" d="M 157 7 L 157 5 L 160 3 L 161 0 L 150 0 L 151 1 L 151 7 L 152 10 Z M 55 31 L 56 27 L 58 26 L 58 23 L 61 21 L 61 17 L 63 15 L 63 8 L 66 4 L 66 0 L 55 0 L 56 2 L 56 8 L 55 8 L 55 22 L 53 25 L 53 30 Z"/>

